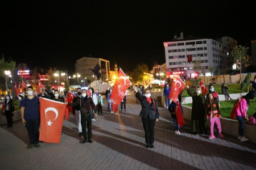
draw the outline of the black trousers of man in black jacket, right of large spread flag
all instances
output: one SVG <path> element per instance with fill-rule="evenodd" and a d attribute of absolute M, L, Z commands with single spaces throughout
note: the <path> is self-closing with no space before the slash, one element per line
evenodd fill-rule
<path fill-rule="evenodd" d="M 87 124 L 86 124 L 87 123 Z M 81 114 L 81 125 L 82 125 L 82 136 L 85 140 L 92 138 L 92 114 L 89 116 L 84 116 Z M 87 133 L 86 133 L 86 125 L 87 125 Z"/>

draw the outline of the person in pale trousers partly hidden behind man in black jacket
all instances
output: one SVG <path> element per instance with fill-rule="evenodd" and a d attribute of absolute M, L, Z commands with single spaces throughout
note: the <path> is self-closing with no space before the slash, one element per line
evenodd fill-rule
<path fill-rule="evenodd" d="M 82 89 L 79 87 L 76 89 L 76 97 L 73 98 L 72 103 L 75 103 L 78 99 L 81 99 L 82 97 Z M 82 125 L 81 125 L 81 114 L 80 114 L 80 105 L 73 106 L 73 117 L 76 118 L 77 127 L 79 130 L 79 137 L 82 136 Z"/>

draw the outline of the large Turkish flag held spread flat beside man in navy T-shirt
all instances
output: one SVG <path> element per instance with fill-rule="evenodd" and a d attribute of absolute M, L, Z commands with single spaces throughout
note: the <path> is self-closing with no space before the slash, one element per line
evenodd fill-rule
<path fill-rule="evenodd" d="M 40 141 L 60 143 L 66 107 L 65 103 L 40 97 Z"/>

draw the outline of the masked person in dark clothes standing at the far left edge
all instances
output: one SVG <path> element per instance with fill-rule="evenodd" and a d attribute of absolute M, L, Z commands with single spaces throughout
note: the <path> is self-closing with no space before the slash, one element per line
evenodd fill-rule
<path fill-rule="evenodd" d="M 3 101 L 2 114 L 6 116 L 6 120 L 8 124 L 7 128 L 13 127 L 13 112 L 14 112 L 13 100 L 11 100 L 10 95 L 6 95 L 5 100 Z"/>

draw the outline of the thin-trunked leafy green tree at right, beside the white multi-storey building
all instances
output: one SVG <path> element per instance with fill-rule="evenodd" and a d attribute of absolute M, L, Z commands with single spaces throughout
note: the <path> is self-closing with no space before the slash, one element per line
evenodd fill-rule
<path fill-rule="evenodd" d="M 247 61 L 246 53 L 247 53 L 247 49 L 245 48 L 245 46 L 239 45 L 239 46 L 235 46 L 230 54 L 230 56 L 232 56 L 234 58 L 234 63 L 237 63 L 237 65 L 238 65 L 238 61 L 240 63 L 240 83 L 242 80 L 242 78 L 241 78 L 242 64 Z M 237 67 L 237 69 L 238 69 L 238 67 Z"/>

